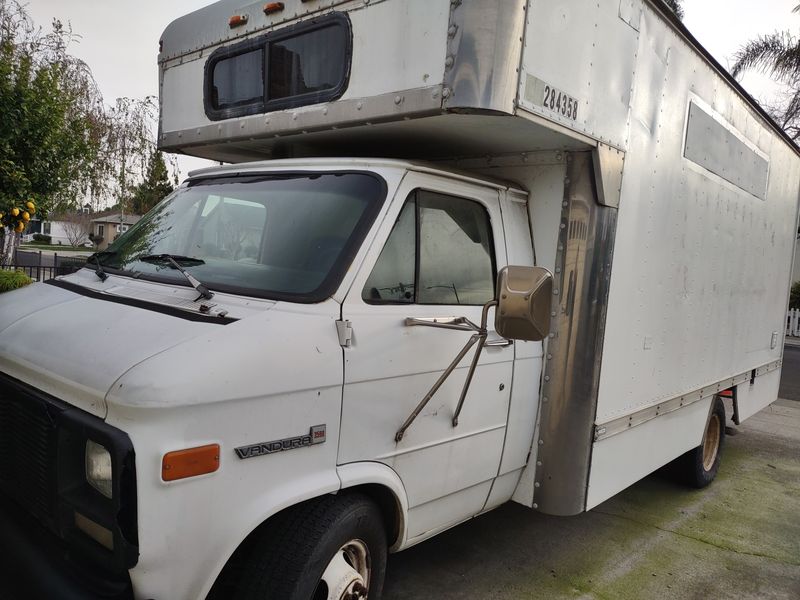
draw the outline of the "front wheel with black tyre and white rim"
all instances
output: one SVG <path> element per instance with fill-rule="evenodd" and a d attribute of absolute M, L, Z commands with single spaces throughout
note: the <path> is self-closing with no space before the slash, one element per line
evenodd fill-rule
<path fill-rule="evenodd" d="M 386 529 L 367 496 L 325 496 L 268 523 L 235 584 L 247 600 L 380 600 Z"/>

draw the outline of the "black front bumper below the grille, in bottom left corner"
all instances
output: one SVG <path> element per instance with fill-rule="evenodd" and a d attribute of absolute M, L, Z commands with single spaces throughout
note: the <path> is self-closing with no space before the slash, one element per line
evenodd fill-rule
<path fill-rule="evenodd" d="M 76 564 L 61 540 L 5 499 L 0 548 L 0 598 L 133 598 L 127 572 L 115 576 Z"/>

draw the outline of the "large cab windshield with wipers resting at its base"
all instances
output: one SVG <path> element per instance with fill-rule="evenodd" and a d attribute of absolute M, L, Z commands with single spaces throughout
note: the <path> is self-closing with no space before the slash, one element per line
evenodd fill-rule
<path fill-rule="evenodd" d="M 200 179 L 97 260 L 112 272 L 187 285 L 169 261 L 153 260 L 173 255 L 211 290 L 319 302 L 335 291 L 385 194 L 368 173 Z"/>

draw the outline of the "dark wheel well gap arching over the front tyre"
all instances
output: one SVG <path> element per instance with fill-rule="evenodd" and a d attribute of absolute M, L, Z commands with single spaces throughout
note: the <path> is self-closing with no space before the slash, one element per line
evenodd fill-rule
<path fill-rule="evenodd" d="M 383 522 L 386 526 L 386 539 L 389 547 L 398 540 L 400 536 L 400 528 L 402 526 L 402 510 L 400 504 L 388 488 L 379 484 L 363 484 L 346 488 L 338 492 L 338 495 L 361 493 L 370 498 L 381 511 Z M 314 502 L 323 496 L 310 498 L 305 500 L 299 505 L 289 506 L 282 511 L 275 513 L 261 525 L 256 527 L 250 534 L 242 541 L 241 544 L 234 550 L 228 562 L 222 568 L 217 580 L 214 582 L 211 591 L 208 593 L 206 600 L 225 600 L 231 597 L 232 590 L 234 589 L 235 582 L 241 577 L 243 564 L 247 556 L 252 552 L 253 546 L 256 544 L 260 536 L 267 535 L 269 527 L 279 517 L 285 515 L 288 511 L 295 510 L 298 506 L 308 502 Z"/>

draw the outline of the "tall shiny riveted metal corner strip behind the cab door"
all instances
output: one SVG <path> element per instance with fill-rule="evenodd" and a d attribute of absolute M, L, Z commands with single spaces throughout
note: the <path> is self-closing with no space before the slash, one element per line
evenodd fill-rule
<path fill-rule="evenodd" d="M 552 333 L 541 388 L 534 502 L 585 509 L 617 211 L 597 202 L 592 155 L 568 155 Z"/>

